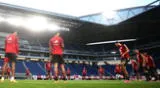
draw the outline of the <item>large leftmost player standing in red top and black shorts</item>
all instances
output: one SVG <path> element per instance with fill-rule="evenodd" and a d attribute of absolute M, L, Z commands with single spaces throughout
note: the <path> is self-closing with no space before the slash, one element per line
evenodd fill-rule
<path fill-rule="evenodd" d="M 18 44 L 18 37 L 17 32 L 14 32 L 13 34 L 10 34 L 5 39 L 5 59 L 3 64 L 3 70 L 2 70 L 2 78 L 1 82 L 4 81 L 4 73 L 6 71 L 6 67 L 8 66 L 8 62 L 10 61 L 12 64 L 11 69 L 11 82 L 16 82 L 15 80 L 15 64 L 17 55 L 19 53 L 19 44 Z"/>

